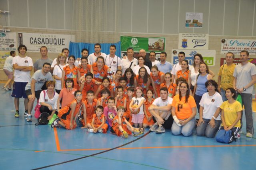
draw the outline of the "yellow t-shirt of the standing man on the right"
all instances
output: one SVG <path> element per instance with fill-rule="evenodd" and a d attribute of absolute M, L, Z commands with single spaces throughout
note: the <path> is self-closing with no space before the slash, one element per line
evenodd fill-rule
<path fill-rule="evenodd" d="M 234 80 L 233 73 L 234 73 L 235 67 L 236 67 L 236 64 L 231 64 L 230 66 L 228 66 L 227 64 L 224 64 L 220 67 L 218 76 L 221 76 L 220 87 L 223 90 L 226 90 L 227 88 L 233 88 L 233 80 Z"/>

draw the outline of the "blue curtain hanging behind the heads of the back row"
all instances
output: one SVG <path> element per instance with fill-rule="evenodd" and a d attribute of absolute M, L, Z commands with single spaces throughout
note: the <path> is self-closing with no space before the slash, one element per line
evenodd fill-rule
<path fill-rule="evenodd" d="M 101 45 L 101 52 L 105 54 L 109 54 L 110 45 L 116 45 L 116 56 L 121 56 L 121 42 L 116 43 L 102 43 Z M 90 43 L 83 43 L 83 42 L 71 42 L 69 43 L 69 55 L 74 55 L 76 58 L 81 57 L 81 51 L 83 48 L 87 48 L 89 50 L 89 54 L 94 52 L 94 45 Z M 89 55 L 88 54 L 88 55 Z"/>

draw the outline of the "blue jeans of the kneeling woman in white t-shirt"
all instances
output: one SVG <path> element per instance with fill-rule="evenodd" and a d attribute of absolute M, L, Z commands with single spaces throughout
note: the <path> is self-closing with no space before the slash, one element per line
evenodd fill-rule
<path fill-rule="evenodd" d="M 215 120 L 215 128 L 211 128 L 211 125 L 208 124 L 210 122 L 210 119 L 203 120 L 204 123 L 202 122 L 200 126 L 196 128 L 196 135 L 206 136 L 207 138 L 213 138 L 220 128 L 221 120 Z"/>

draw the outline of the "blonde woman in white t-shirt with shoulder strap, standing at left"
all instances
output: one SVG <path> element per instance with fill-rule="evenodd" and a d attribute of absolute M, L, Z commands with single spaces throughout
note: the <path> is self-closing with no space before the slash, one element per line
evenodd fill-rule
<path fill-rule="evenodd" d="M 64 53 L 60 53 L 57 57 L 57 65 L 54 66 L 53 73 L 52 73 L 54 79 L 56 80 L 55 90 L 58 94 L 60 94 L 62 70 L 65 66 L 66 66 L 66 55 Z"/>

